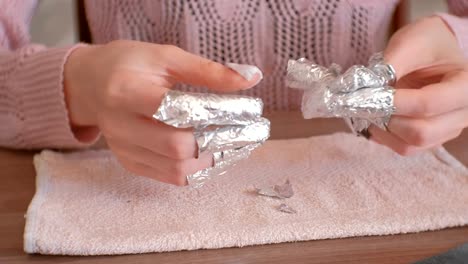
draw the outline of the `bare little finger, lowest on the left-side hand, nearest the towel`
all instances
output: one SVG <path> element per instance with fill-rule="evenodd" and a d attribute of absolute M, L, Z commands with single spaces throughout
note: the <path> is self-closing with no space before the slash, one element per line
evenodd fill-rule
<path fill-rule="evenodd" d="M 173 184 L 177 186 L 185 186 L 188 184 L 186 177 L 168 177 L 164 173 L 161 173 L 157 169 L 150 167 L 146 164 L 140 163 L 138 161 L 134 161 L 132 159 L 128 159 L 126 157 L 120 156 L 116 154 L 117 160 L 122 164 L 122 166 L 129 172 L 134 173 L 139 176 L 144 176 L 148 178 L 155 179 L 160 182 Z"/>

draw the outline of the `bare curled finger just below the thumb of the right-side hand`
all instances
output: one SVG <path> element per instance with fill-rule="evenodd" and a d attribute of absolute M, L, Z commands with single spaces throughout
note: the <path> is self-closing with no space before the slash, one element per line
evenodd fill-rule
<path fill-rule="evenodd" d="M 397 89 L 396 115 L 424 118 L 464 108 L 468 105 L 467 78 L 462 74 L 421 89 Z"/>

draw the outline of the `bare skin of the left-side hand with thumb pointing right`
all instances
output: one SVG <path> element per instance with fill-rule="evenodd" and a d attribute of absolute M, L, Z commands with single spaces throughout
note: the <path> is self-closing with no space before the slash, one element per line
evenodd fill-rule
<path fill-rule="evenodd" d="M 176 83 L 232 92 L 248 89 L 261 78 L 256 74 L 246 80 L 175 46 L 124 40 L 77 48 L 64 75 L 73 127 L 97 127 L 127 170 L 175 185 L 186 185 L 187 175 L 213 161 L 210 154 L 195 158 L 191 130 L 152 118 L 164 94 Z"/>

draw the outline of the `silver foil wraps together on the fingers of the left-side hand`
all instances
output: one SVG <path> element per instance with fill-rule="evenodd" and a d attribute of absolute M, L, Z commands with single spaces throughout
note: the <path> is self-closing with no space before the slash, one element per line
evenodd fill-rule
<path fill-rule="evenodd" d="M 193 128 L 198 153 L 213 154 L 213 167 L 187 176 L 189 185 L 201 187 L 268 139 L 270 121 L 261 117 L 262 111 L 263 103 L 257 98 L 171 90 L 153 118 L 173 127 Z"/>

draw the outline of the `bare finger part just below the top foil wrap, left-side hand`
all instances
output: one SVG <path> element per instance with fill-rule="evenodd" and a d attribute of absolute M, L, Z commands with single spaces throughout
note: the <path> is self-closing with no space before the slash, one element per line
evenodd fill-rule
<path fill-rule="evenodd" d="M 102 120 L 101 131 L 106 138 L 135 144 L 168 158 L 195 158 L 198 147 L 190 129 L 165 125 L 151 118 L 131 113 L 114 113 L 117 117 Z"/>

